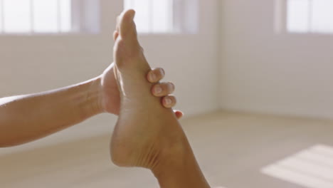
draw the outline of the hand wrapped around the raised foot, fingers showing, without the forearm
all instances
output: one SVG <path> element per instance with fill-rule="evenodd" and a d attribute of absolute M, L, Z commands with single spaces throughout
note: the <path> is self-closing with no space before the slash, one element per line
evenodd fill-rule
<path fill-rule="evenodd" d="M 120 93 L 118 90 L 117 82 L 115 80 L 115 74 L 113 71 L 114 63 L 112 63 L 102 73 L 102 108 L 107 113 L 118 115 L 120 112 Z M 159 83 L 159 80 L 164 78 L 164 71 L 162 68 L 156 68 L 149 71 L 147 74 L 147 80 L 150 83 L 156 83 L 152 86 L 152 95 L 161 97 L 161 103 L 165 108 L 173 108 L 176 105 L 176 98 L 171 95 L 174 92 L 173 83 Z M 174 113 L 178 119 L 183 117 L 183 113 L 179 110 L 174 110 Z"/>

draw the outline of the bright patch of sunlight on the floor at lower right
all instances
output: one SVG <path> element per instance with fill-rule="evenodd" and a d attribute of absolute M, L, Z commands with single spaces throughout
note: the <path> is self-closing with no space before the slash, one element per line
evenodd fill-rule
<path fill-rule="evenodd" d="M 333 147 L 315 145 L 262 169 L 271 177 L 309 188 L 333 187 Z"/>

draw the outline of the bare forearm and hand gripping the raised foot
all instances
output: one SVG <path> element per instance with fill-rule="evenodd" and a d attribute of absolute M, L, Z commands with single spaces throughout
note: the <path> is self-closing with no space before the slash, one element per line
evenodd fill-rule
<path fill-rule="evenodd" d="M 0 147 L 11 147 L 46 137 L 99 113 L 119 114 L 120 94 L 114 63 L 102 75 L 84 83 L 43 93 L 0 98 Z M 149 70 L 154 83 L 149 95 L 162 97 L 164 108 L 176 105 L 172 83 L 158 83 L 162 68 Z M 159 89 L 160 88 L 160 89 Z M 177 117 L 183 114 L 175 111 Z"/>

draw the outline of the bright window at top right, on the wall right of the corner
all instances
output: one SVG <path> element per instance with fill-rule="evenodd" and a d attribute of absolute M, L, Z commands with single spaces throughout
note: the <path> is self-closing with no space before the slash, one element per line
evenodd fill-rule
<path fill-rule="evenodd" d="M 333 33 L 332 0 L 287 0 L 287 31 Z"/>

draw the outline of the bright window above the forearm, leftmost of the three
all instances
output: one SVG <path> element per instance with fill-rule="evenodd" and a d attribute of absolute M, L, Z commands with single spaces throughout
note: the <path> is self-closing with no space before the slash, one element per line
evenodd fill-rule
<path fill-rule="evenodd" d="M 0 0 L 0 33 L 70 33 L 99 30 L 95 0 Z"/>

